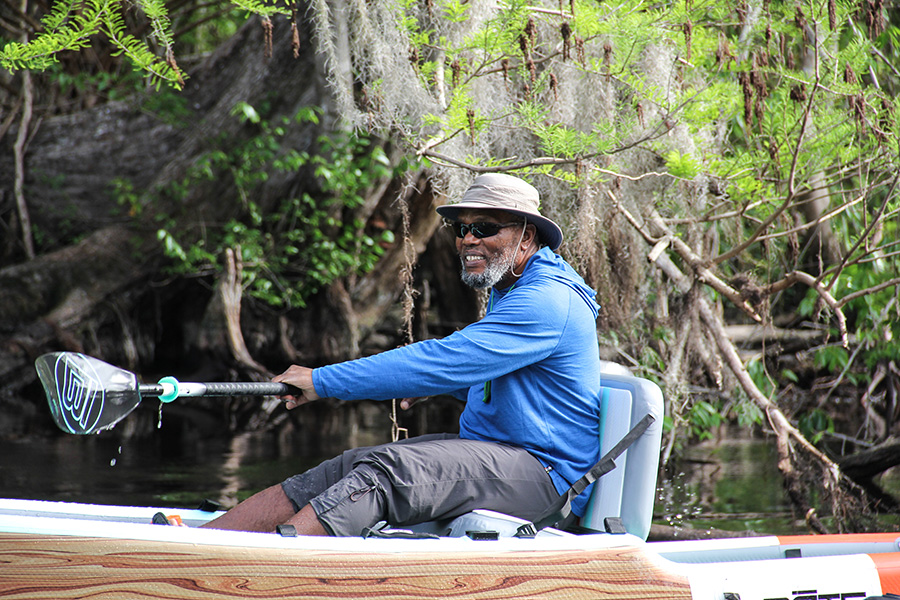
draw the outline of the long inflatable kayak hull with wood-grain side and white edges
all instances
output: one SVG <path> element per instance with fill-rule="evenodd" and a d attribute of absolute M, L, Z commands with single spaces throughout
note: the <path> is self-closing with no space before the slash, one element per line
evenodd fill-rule
<path fill-rule="evenodd" d="M 648 544 L 596 534 L 311 538 L 150 525 L 158 509 L 0 500 L 0 599 L 863 600 L 900 534 Z M 197 525 L 211 515 L 179 511 Z"/>

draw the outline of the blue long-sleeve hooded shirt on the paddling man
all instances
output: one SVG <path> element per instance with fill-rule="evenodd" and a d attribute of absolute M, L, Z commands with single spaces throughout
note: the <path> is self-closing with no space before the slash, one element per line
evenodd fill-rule
<path fill-rule="evenodd" d="M 551 467 L 562 493 L 599 460 L 594 297 L 562 257 L 543 248 L 514 286 L 492 291 L 481 320 L 443 339 L 317 368 L 313 384 L 320 396 L 343 400 L 467 400 L 460 437 L 528 450 Z M 575 514 L 588 494 L 573 502 Z"/>

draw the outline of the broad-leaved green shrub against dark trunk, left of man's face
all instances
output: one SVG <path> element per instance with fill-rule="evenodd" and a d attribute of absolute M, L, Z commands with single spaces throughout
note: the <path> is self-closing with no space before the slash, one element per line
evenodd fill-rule
<path fill-rule="evenodd" d="M 213 151 L 191 173 L 164 193 L 187 195 L 201 181 L 226 178 L 237 191 L 236 216 L 221 226 L 206 224 L 192 237 L 174 222 L 163 224 L 158 239 L 173 260 L 173 272 L 209 274 L 220 270 L 226 248 L 240 248 L 247 293 L 277 308 L 306 306 L 307 299 L 335 279 L 370 271 L 394 242 L 390 230 L 369 231 L 354 209 L 379 180 L 409 168 L 393 167 L 382 148 L 362 135 L 341 133 L 319 139 L 315 154 L 285 148 L 288 120 L 270 123 L 260 112 L 238 103 L 232 114 L 258 127 L 257 135 L 230 151 Z M 317 122 L 304 109 L 298 122 Z M 254 200 L 259 184 L 275 173 L 309 172 L 319 193 L 303 193 L 264 208 Z"/>

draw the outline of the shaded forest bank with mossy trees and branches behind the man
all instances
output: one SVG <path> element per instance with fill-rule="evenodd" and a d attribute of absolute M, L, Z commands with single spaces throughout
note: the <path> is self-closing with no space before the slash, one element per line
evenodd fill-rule
<path fill-rule="evenodd" d="M 264 380 L 464 326 L 480 298 L 433 209 L 502 170 L 564 225 L 604 358 L 663 386 L 664 463 L 739 424 L 778 445 L 811 527 L 896 510 L 877 486 L 900 462 L 896 6 L 260 3 L 248 20 L 183 1 L 162 4 L 168 39 L 148 4 L 56 62 L 0 56 L 0 435 L 59 435 L 43 352 Z M 4 39 L 61 37 L 61 6 L 75 22 L 99 3 L 4 2 Z M 117 31 L 168 70 L 133 70 Z M 365 442 L 387 412 L 171 411 L 191 435 L 310 448 Z"/>

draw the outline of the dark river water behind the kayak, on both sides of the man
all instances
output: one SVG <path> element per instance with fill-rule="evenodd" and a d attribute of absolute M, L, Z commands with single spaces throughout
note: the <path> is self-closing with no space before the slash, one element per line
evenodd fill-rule
<path fill-rule="evenodd" d="M 774 452 L 770 439 L 748 435 L 691 448 L 659 485 L 655 522 L 806 533 L 789 510 Z M 0 457 L 6 498 L 184 508 L 204 499 L 234 504 L 327 458 L 298 456 L 265 434 L 177 443 L 162 435 L 124 443 L 59 436 L 0 442 Z M 896 491 L 900 477 L 888 474 L 882 484 Z"/>

